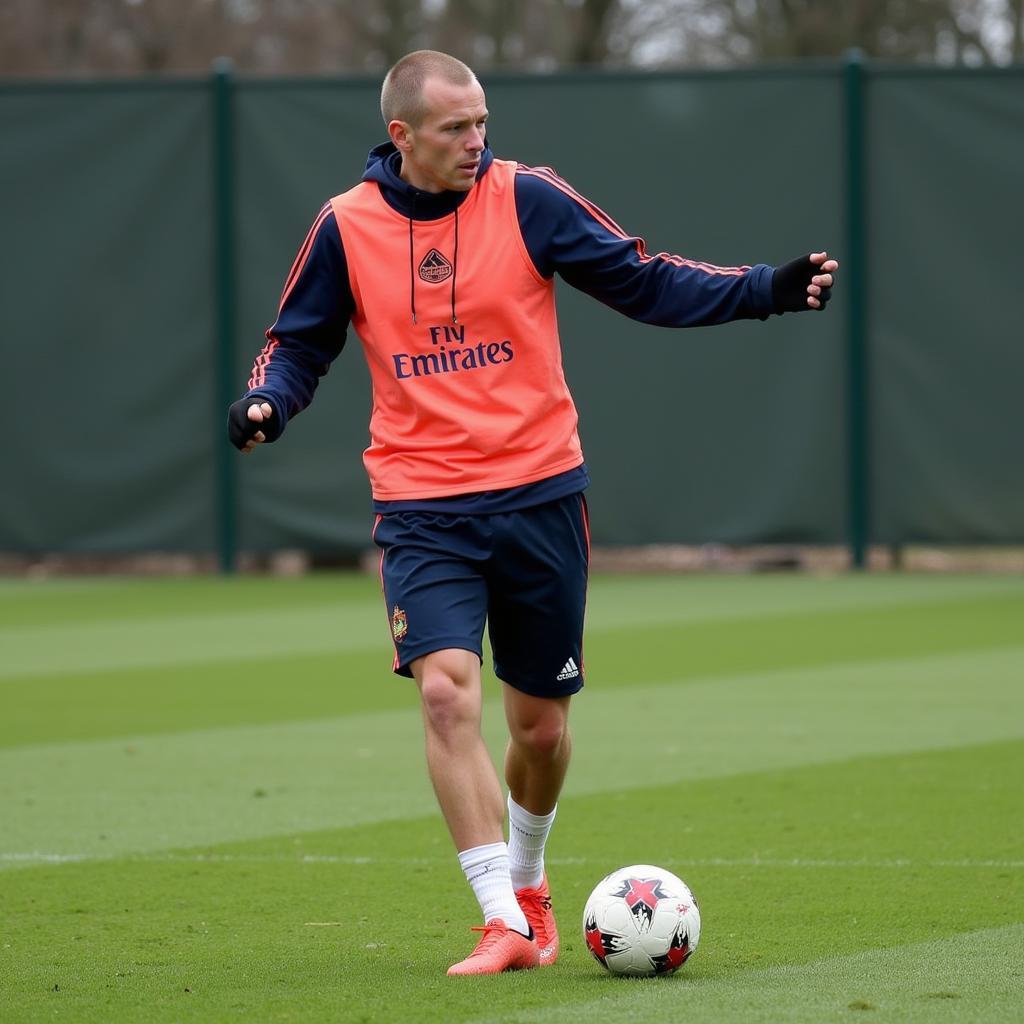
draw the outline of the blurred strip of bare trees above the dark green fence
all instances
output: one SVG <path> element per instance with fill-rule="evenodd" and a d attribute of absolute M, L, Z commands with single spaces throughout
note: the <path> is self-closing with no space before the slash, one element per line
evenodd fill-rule
<path fill-rule="evenodd" d="M 481 70 L 835 57 L 1024 60 L 1024 0 L 5 0 L 0 74 L 380 71 L 411 49 Z"/>

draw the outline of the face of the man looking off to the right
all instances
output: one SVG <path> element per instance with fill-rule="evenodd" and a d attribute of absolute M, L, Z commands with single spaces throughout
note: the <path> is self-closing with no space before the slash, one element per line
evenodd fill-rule
<path fill-rule="evenodd" d="M 402 178 L 423 191 L 468 191 L 483 152 L 487 120 L 483 89 L 475 81 L 452 85 L 428 78 L 423 102 L 427 112 L 423 120 L 400 133 L 408 143 L 399 144 Z"/>

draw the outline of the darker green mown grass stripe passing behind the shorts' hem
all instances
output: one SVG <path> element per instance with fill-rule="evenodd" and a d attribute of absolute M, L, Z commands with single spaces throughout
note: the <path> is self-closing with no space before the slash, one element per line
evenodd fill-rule
<path fill-rule="evenodd" d="M 587 640 L 588 678 L 593 687 L 603 689 L 629 688 L 637 680 L 683 683 L 838 664 L 863 663 L 869 671 L 870 664 L 880 658 L 1017 644 L 1022 615 L 1024 601 L 1002 597 L 592 629 Z M 316 621 L 305 625 L 315 626 Z M 206 662 L 173 664 L 175 656 L 198 657 L 205 648 L 201 636 L 185 634 L 172 641 L 173 631 L 168 631 L 168 664 L 123 665 L 92 672 L 81 671 L 79 665 L 75 672 L 11 677 L 0 686 L 0 746 L 301 722 L 408 708 L 415 701 L 412 685 L 391 675 L 390 655 L 385 657 L 389 648 L 384 644 L 355 638 L 352 643 L 362 644 L 357 649 L 309 653 L 308 648 L 349 642 L 345 636 L 335 638 L 326 624 L 321 626 L 314 631 L 316 639 L 305 645 L 301 655 L 282 654 L 281 641 L 271 638 L 265 643 L 273 653 L 260 654 L 254 648 L 244 657 L 228 657 L 232 645 L 246 642 L 245 635 L 221 637 L 211 626 L 204 635 L 214 648 L 219 645 L 221 649 Z M 302 636 L 302 629 L 296 627 L 286 642 L 299 642 Z M 163 656 L 148 649 L 139 653 L 141 641 L 130 631 L 120 645 L 113 634 L 108 641 L 114 653 L 104 648 L 101 658 Z M 41 649 L 45 651 L 45 645 Z M 65 651 L 59 656 L 70 655 Z M 486 653 L 484 662 L 489 668 Z M 487 683 L 492 691 L 496 685 Z M 60 709 L 60 714 L 54 714 L 54 709 Z"/>

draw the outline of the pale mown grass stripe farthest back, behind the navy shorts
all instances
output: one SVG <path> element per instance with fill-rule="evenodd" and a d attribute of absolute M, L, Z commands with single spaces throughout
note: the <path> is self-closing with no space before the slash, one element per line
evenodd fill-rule
<path fill-rule="evenodd" d="M 883 629 L 886 609 L 891 609 L 906 616 L 908 623 L 918 620 L 919 633 L 935 616 L 952 616 L 973 623 L 974 629 L 993 640 L 1001 632 L 1015 642 L 1012 624 L 1019 622 L 1024 603 L 1024 586 L 999 579 L 958 586 L 942 580 L 928 587 L 919 581 L 911 581 L 914 585 L 908 587 L 892 580 L 865 587 L 846 579 L 811 579 L 799 585 L 771 580 L 765 584 L 749 580 L 726 583 L 670 578 L 660 585 L 645 582 L 640 590 L 630 581 L 596 580 L 588 604 L 588 630 L 595 634 L 646 629 L 656 637 L 670 628 L 718 623 L 728 630 L 741 628 L 742 621 L 750 620 L 777 623 L 786 632 L 787 620 L 803 622 L 810 616 L 814 622 L 824 616 L 827 622 L 833 616 L 841 621 L 859 609 L 859 627 L 856 615 L 849 623 L 852 635 L 858 628 Z M 735 586 L 740 583 L 744 586 Z M 278 584 L 265 586 L 272 589 Z M 268 602 L 253 589 L 253 582 L 245 581 L 236 589 L 218 585 L 213 591 L 219 596 L 218 603 L 191 614 L 182 614 L 176 607 L 174 613 L 159 617 L 140 616 L 139 609 L 145 605 L 138 598 L 136 605 L 120 610 L 114 606 L 109 618 L 98 621 L 13 626 L 5 615 L 0 620 L 4 624 L 0 628 L 0 679 L 385 650 L 388 637 L 379 592 L 359 578 L 355 583 L 347 580 L 345 586 L 347 595 L 361 600 L 307 604 L 310 595 L 299 591 L 303 596 L 299 607 L 267 607 Z M 319 581 L 311 593 L 323 596 L 324 582 Z M 206 597 L 209 599 L 209 594 Z M 161 592 L 153 592 L 151 600 L 158 598 L 158 603 L 166 601 Z M 944 605 L 948 606 L 945 610 Z M 972 616 L 975 605 L 977 612 Z M 898 624 L 891 624 L 891 628 L 898 629 Z M 941 636 L 938 624 L 935 629 Z"/>

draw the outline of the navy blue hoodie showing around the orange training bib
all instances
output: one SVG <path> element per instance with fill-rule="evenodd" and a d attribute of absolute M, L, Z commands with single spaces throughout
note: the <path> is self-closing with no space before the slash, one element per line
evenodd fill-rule
<path fill-rule="evenodd" d="M 484 150 L 477 178 L 494 157 Z M 371 151 L 364 181 L 376 181 L 385 201 L 403 216 L 435 220 L 447 216 L 468 193 L 424 193 L 399 176 L 401 157 L 386 142 Z M 558 273 L 632 319 L 660 327 L 699 327 L 734 319 L 765 318 L 773 311 L 772 274 L 765 264 L 716 267 L 668 253 L 650 255 L 643 240 L 627 234 L 600 208 L 550 168 L 519 165 L 515 179 L 519 227 L 539 273 Z M 288 420 L 312 399 L 319 378 L 345 344 L 354 299 L 345 251 L 328 204 L 317 217 L 300 256 L 298 278 L 286 289 L 278 319 L 267 331 L 263 380 L 249 395 L 274 410 L 280 436 Z M 268 353 L 272 349 L 272 357 Z M 252 382 L 250 383 L 252 386 Z M 377 511 L 398 508 L 454 512 L 510 511 L 582 490 L 586 467 L 549 480 L 483 495 L 422 502 L 377 502 Z"/>

